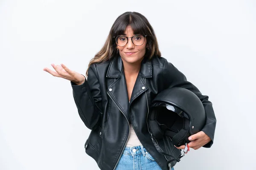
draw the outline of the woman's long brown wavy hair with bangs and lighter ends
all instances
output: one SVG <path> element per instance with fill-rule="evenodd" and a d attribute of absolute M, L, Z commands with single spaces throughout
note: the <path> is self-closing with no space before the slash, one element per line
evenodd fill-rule
<path fill-rule="evenodd" d="M 93 59 L 90 60 L 86 76 L 88 76 L 89 67 L 93 63 L 105 62 L 117 56 L 119 52 L 116 50 L 116 40 L 114 37 L 124 34 L 127 26 L 131 26 L 134 34 L 147 35 L 146 39 L 148 49 L 146 50 L 145 57 L 148 57 L 149 59 L 152 57 L 161 57 L 157 37 L 155 36 L 154 30 L 146 17 L 138 12 L 125 12 L 113 23 L 102 49 L 94 56 Z"/>

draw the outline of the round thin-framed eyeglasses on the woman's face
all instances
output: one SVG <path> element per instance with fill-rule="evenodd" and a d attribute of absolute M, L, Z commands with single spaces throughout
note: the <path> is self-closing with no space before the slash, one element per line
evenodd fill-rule
<path fill-rule="evenodd" d="M 125 37 L 123 35 L 118 35 L 116 37 L 116 44 L 120 47 L 125 46 L 128 43 L 128 38 L 131 38 L 131 42 L 136 45 L 136 46 L 140 46 L 143 45 L 144 41 L 145 41 L 145 37 L 147 37 L 147 35 L 134 35 L 132 37 Z"/>

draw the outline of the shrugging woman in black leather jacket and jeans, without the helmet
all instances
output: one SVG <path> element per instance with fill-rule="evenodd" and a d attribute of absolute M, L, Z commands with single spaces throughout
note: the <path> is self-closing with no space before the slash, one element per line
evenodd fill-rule
<path fill-rule="evenodd" d="M 103 48 L 90 61 L 87 79 L 64 64 L 49 74 L 71 81 L 79 116 L 91 129 L 85 151 L 102 170 L 169 170 L 148 132 L 151 101 L 166 88 L 183 87 L 203 102 L 207 114 L 203 130 L 190 136 L 190 148 L 210 147 L 215 114 L 208 96 L 163 57 L 148 20 L 140 13 L 120 15 Z M 183 149 L 184 146 L 173 150 Z"/>

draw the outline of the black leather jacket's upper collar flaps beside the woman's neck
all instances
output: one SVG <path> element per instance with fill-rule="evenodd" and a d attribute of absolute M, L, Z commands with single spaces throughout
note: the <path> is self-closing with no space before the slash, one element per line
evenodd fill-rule
<path fill-rule="evenodd" d="M 122 70 L 123 70 L 122 59 L 121 59 L 121 56 L 118 55 L 111 60 L 106 77 L 118 78 L 120 77 Z M 152 65 L 151 65 L 151 61 L 147 57 L 144 57 L 143 61 L 141 62 L 139 75 L 145 78 L 152 77 Z"/>

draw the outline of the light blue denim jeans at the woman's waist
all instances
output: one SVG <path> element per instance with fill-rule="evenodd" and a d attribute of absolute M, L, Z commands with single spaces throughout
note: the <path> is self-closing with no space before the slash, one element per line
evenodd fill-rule
<path fill-rule="evenodd" d="M 162 170 L 154 158 L 141 145 L 125 147 L 115 170 Z M 172 170 L 174 168 L 172 167 Z"/>

